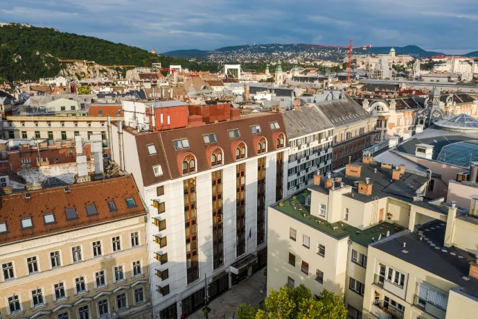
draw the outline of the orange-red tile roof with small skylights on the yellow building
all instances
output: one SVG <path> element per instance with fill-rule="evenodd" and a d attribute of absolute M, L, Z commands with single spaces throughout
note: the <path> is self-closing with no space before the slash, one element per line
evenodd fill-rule
<path fill-rule="evenodd" d="M 133 216 L 145 215 L 145 208 L 131 176 L 84 184 L 15 193 L 0 197 L 0 223 L 7 222 L 8 232 L 0 234 L 0 245 L 53 235 L 82 227 L 91 227 Z M 125 198 L 134 198 L 135 207 L 128 208 Z M 107 202 L 114 200 L 116 211 L 109 212 Z M 98 214 L 87 216 L 85 205 L 96 205 Z M 76 208 L 78 218 L 67 221 L 65 209 Z M 55 223 L 45 225 L 43 214 L 53 212 Z M 21 230 L 21 218 L 31 216 L 33 227 Z"/>

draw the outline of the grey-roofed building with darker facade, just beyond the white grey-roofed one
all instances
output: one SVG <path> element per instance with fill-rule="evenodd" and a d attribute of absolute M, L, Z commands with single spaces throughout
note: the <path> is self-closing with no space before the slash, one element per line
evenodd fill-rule
<path fill-rule="evenodd" d="M 350 159 L 359 159 L 362 150 L 373 145 L 377 118 L 351 98 L 323 101 L 316 105 L 333 124 L 332 169 L 344 167 Z"/>

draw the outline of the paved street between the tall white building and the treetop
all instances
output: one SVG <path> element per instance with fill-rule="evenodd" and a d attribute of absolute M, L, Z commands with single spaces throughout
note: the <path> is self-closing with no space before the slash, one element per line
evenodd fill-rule
<path fill-rule="evenodd" d="M 264 285 L 265 275 L 263 270 L 259 270 L 251 277 L 233 286 L 229 291 L 223 293 L 218 298 L 215 298 L 215 300 L 209 304 L 209 308 L 211 308 L 209 319 L 238 318 L 235 312 L 242 302 L 256 306 L 264 300 L 267 295 Z M 188 319 L 189 318 L 204 319 L 204 313 L 202 313 L 202 309 L 200 309 L 189 316 Z"/>

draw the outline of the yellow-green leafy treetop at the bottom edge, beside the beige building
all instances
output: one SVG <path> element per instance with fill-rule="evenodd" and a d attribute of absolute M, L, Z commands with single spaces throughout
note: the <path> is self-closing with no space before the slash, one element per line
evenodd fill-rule
<path fill-rule="evenodd" d="M 347 311 L 339 295 L 324 289 L 317 300 L 309 288 L 283 286 L 272 290 L 264 300 L 264 309 L 241 304 L 239 319 L 346 319 Z"/>

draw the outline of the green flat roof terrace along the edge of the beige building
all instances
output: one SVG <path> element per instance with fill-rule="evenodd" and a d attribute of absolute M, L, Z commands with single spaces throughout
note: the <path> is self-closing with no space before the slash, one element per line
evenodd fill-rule
<path fill-rule="evenodd" d="M 310 214 L 310 206 L 306 206 L 306 198 L 309 195 L 310 191 L 306 189 L 276 202 L 271 207 L 336 239 L 350 236 L 352 241 L 364 246 L 373 243 L 372 238 L 376 241 L 380 234 L 384 237 L 387 231 L 389 231 L 390 234 L 394 234 L 404 229 L 399 225 L 390 223 L 380 223 L 366 230 L 359 230 L 343 222 L 328 223 L 325 219 Z"/>

